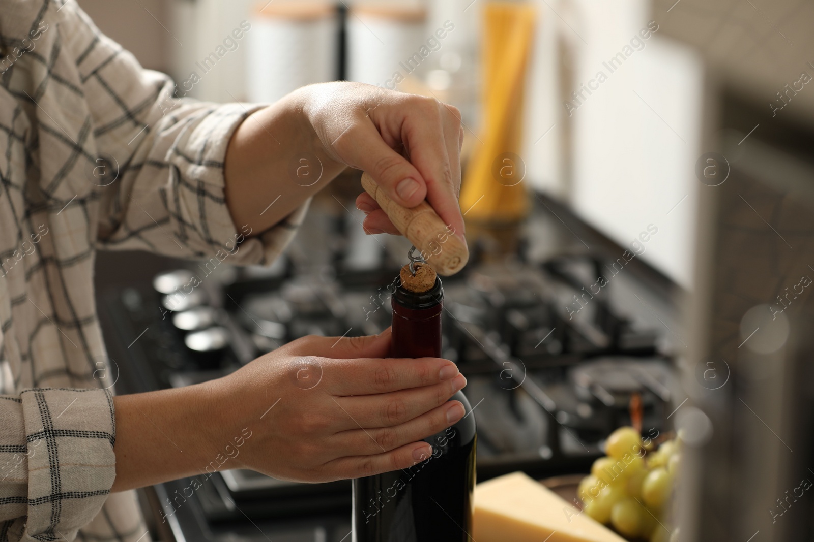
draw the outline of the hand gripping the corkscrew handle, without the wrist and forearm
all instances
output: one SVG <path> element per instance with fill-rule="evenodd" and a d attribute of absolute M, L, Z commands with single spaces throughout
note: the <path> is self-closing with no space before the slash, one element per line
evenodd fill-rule
<path fill-rule="evenodd" d="M 463 128 L 455 107 L 361 83 L 302 90 L 308 93 L 304 113 L 330 158 L 367 171 L 402 206 L 427 198 L 444 223 L 463 233 L 457 202 Z M 399 233 L 367 193 L 357 207 L 367 213 L 365 232 Z"/>

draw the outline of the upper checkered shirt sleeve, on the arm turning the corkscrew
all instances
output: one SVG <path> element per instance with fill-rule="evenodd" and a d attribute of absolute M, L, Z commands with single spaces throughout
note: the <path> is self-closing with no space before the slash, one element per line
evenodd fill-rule
<path fill-rule="evenodd" d="M 142 69 L 72 2 L 62 11 L 68 10 L 74 14 L 65 24 L 74 28 L 66 33 L 67 46 L 82 95 L 66 98 L 90 115 L 95 149 L 89 152 L 97 166 L 87 178 L 101 197 L 98 245 L 207 259 L 227 250 L 229 261 L 240 264 L 277 258 L 308 203 L 244 241 L 260 232 L 234 224 L 224 196 L 226 147 L 235 128 L 260 106 L 173 98 L 168 76 Z M 236 240 L 242 241 L 239 253 Z"/>

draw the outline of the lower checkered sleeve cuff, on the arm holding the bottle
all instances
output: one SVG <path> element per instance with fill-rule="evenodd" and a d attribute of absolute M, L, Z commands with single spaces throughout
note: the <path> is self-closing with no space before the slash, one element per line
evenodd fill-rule
<path fill-rule="evenodd" d="M 0 420 L 4 540 L 73 540 L 98 514 L 116 478 L 111 394 L 28 389 L 19 397 L 0 396 Z"/>

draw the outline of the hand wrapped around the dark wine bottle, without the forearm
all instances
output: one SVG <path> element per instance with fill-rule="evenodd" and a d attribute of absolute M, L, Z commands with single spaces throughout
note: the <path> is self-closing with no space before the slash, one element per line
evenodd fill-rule
<path fill-rule="evenodd" d="M 221 379 L 221 435 L 251 438 L 239 466 L 278 479 L 326 482 L 404 469 L 430 457 L 427 436 L 464 415 L 453 362 L 389 358 L 378 336 L 306 336 Z M 224 468 L 234 468 L 224 465 Z"/>

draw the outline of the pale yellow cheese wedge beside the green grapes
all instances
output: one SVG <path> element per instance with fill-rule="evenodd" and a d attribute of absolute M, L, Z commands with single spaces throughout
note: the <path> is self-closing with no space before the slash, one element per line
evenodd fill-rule
<path fill-rule="evenodd" d="M 472 540 L 625 542 L 523 472 L 475 486 Z"/>

